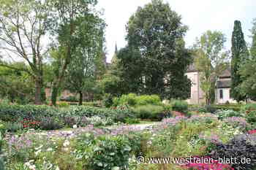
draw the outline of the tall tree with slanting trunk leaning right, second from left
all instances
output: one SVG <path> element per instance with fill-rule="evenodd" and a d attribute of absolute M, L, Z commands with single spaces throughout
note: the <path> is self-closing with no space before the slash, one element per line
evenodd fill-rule
<path fill-rule="evenodd" d="M 58 42 L 53 48 L 53 58 L 58 58 L 56 67 L 56 78 L 53 81 L 53 91 L 51 101 L 56 105 L 56 99 L 64 80 L 65 73 L 72 61 L 72 54 L 76 51 L 75 33 L 79 26 L 83 24 L 79 18 L 86 18 L 94 12 L 96 0 L 51 0 L 51 5 L 55 11 L 51 14 L 51 28 L 53 36 L 58 35 Z"/>

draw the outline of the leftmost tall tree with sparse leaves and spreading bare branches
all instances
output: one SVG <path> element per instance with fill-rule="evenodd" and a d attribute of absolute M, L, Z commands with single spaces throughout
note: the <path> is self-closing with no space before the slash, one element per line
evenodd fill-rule
<path fill-rule="evenodd" d="M 0 66 L 26 72 L 35 83 L 35 104 L 45 98 L 43 88 L 43 61 L 47 48 L 42 40 L 47 31 L 50 6 L 41 0 L 0 1 L 0 49 L 8 61 L 26 61 L 28 68 L 10 66 L 0 61 Z"/>

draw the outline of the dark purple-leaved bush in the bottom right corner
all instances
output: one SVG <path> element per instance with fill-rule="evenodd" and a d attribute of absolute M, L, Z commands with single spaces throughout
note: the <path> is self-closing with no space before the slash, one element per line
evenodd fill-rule
<path fill-rule="evenodd" d="M 254 170 L 256 166 L 256 136 L 243 134 L 236 136 L 227 144 L 217 144 L 211 157 L 216 159 L 236 158 L 238 161 L 249 158 L 250 163 L 236 163 L 231 166 L 234 169 Z"/>

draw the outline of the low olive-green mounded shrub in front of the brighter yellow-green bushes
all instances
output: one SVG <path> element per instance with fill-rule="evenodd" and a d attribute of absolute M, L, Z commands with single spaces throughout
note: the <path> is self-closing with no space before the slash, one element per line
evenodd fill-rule
<path fill-rule="evenodd" d="M 151 119 L 151 120 L 160 120 L 162 113 L 165 111 L 165 108 L 162 106 L 155 105 L 145 105 L 136 107 L 134 109 L 135 114 L 140 119 Z"/>

